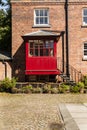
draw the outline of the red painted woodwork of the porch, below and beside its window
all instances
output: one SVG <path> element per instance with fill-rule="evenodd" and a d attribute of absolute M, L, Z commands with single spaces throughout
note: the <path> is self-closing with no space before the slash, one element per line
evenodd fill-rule
<path fill-rule="evenodd" d="M 29 43 L 26 43 L 26 75 L 56 75 L 56 42 L 54 43 L 54 56 L 33 56 L 29 57 Z"/>

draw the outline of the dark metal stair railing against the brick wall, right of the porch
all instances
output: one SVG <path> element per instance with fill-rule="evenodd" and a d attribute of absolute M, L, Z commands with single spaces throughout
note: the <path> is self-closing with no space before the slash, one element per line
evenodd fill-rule
<path fill-rule="evenodd" d="M 61 74 L 66 75 L 66 62 L 62 61 L 60 57 L 57 57 L 57 67 L 60 70 Z M 70 75 L 70 80 L 74 82 L 79 82 L 83 79 L 83 74 L 76 70 L 72 65 L 69 65 L 69 75 Z"/>

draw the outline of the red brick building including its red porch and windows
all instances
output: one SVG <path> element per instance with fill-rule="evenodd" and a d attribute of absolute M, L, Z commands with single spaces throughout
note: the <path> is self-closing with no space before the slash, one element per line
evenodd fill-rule
<path fill-rule="evenodd" d="M 11 0 L 11 7 L 12 76 L 52 81 L 61 71 L 87 74 L 87 0 Z"/>

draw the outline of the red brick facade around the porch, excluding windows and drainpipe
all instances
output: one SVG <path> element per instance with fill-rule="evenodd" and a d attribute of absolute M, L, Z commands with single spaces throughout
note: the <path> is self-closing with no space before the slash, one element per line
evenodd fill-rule
<path fill-rule="evenodd" d="M 38 30 L 65 31 L 65 1 L 31 2 L 12 0 L 12 75 L 25 80 L 25 43 L 22 36 Z M 82 24 L 82 9 L 87 8 L 86 0 L 69 1 L 69 64 L 87 74 L 87 61 L 83 60 L 83 45 L 87 41 L 87 27 Z M 34 9 L 48 8 L 50 27 L 34 27 Z M 61 37 L 57 45 L 57 57 L 61 57 Z M 66 52 L 66 51 L 65 51 Z M 64 53 L 65 53 L 64 52 Z"/>

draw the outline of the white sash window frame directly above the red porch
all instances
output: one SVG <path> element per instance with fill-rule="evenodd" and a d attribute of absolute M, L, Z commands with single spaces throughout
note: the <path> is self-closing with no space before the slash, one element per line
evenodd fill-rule
<path fill-rule="evenodd" d="M 44 15 L 43 15 L 43 16 L 40 16 L 40 15 L 39 15 L 39 16 L 36 16 L 36 11 L 37 11 L 37 10 L 39 11 L 39 14 L 40 14 L 40 11 L 41 11 L 41 10 L 43 10 L 43 12 L 46 10 L 46 11 L 47 11 L 47 16 L 44 16 Z M 47 18 L 47 23 L 42 23 L 42 24 L 41 24 L 41 23 L 40 23 L 40 18 L 41 18 L 41 17 L 42 17 L 42 18 Z M 38 24 L 36 23 L 36 18 L 39 18 L 39 23 L 38 23 Z M 34 26 L 47 26 L 47 25 L 49 25 L 49 9 L 47 9 L 47 8 L 44 8 L 44 9 L 43 9 L 43 8 L 42 8 L 42 9 L 35 9 L 35 10 L 34 10 Z"/>

